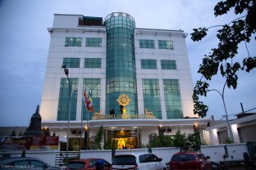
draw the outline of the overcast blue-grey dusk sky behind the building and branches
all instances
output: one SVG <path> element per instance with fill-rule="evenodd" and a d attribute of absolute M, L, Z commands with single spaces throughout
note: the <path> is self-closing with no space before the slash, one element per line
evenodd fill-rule
<path fill-rule="evenodd" d="M 80 14 L 105 17 L 113 11 L 123 11 L 135 18 L 137 28 L 182 29 L 190 34 L 192 29 L 223 25 L 235 19 L 233 12 L 215 17 L 213 7 L 217 1 L 205 0 L 0 0 L 0 126 L 28 126 L 29 119 L 40 105 L 43 78 L 48 57 L 53 14 Z M 202 56 L 217 45 L 216 30 L 211 29 L 201 42 L 186 38 L 193 83 Z M 256 42 L 249 43 L 250 56 L 255 56 Z M 239 60 L 248 56 L 245 43 L 241 44 Z M 213 78 L 210 88 L 222 91 L 225 80 Z M 256 107 L 256 70 L 240 74 L 237 89 L 225 90 L 228 114 Z M 217 92 L 203 98 L 209 106 L 208 117 L 222 119 L 224 109 Z M 252 110 L 256 112 L 256 110 Z M 231 116 L 230 119 L 234 119 Z"/>

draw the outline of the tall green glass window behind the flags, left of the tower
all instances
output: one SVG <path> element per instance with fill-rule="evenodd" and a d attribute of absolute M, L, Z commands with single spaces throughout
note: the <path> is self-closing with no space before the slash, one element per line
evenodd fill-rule
<path fill-rule="evenodd" d="M 83 82 L 83 90 L 88 93 L 89 91 L 92 94 L 92 103 L 94 106 L 94 112 L 99 112 L 100 111 L 100 91 L 101 91 L 101 86 L 100 86 L 100 78 L 84 78 L 84 82 Z M 82 100 L 82 112 L 83 112 L 83 119 L 87 120 L 88 119 L 92 119 L 94 114 L 92 114 L 91 112 L 89 112 L 88 114 L 88 110 L 85 107 L 85 101 L 84 101 L 84 97 Z"/>

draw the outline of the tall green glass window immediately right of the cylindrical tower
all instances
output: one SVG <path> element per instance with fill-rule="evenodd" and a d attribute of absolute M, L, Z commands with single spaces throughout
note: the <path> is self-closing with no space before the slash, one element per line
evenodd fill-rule
<path fill-rule="evenodd" d="M 142 79 L 144 110 L 162 119 L 158 79 Z"/>

